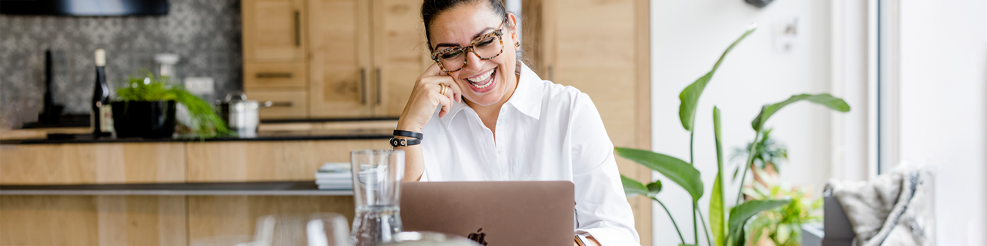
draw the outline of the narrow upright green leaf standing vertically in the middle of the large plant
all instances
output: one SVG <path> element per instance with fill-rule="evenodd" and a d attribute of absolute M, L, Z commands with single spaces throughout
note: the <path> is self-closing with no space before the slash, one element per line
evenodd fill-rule
<path fill-rule="evenodd" d="M 720 131 L 720 108 L 713 107 L 713 133 L 717 142 L 717 180 L 713 181 L 713 194 L 710 197 L 710 229 L 716 245 L 723 246 L 726 240 L 726 204 L 723 199 L 723 147 Z"/>

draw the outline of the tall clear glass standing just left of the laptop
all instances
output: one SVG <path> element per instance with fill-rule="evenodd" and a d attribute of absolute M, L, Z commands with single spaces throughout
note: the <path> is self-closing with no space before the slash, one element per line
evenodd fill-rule
<path fill-rule="evenodd" d="M 401 180 L 405 176 L 405 152 L 360 150 L 350 152 L 353 165 L 353 203 L 356 215 L 350 242 L 376 246 L 401 232 Z"/>

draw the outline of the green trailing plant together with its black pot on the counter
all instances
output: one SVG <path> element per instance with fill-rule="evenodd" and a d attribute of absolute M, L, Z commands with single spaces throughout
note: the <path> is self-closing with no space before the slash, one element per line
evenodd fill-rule
<path fill-rule="evenodd" d="M 171 138 L 175 133 L 176 104 L 189 108 L 192 122 L 202 138 L 229 133 L 226 123 L 212 106 L 181 86 L 167 85 L 167 77 L 130 77 L 125 88 L 116 91 L 113 102 L 117 138 Z"/>

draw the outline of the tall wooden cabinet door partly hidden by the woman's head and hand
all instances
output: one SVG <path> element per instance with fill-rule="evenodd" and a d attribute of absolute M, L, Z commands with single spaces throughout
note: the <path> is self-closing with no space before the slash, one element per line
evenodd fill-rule
<path fill-rule="evenodd" d="M 377 116 L 400 116 L 428 68 L 420 0 L 374 0 L 373 79 Z"/>

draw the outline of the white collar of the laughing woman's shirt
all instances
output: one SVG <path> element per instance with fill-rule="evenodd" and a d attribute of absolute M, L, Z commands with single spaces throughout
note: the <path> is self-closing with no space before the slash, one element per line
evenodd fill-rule
<path fill-rule="evenodd" d="M 520 61 L 518 61 L 520 62 Z M 528 116 L 535 118 L 536 120 L 541 116 L 542 113 L 542 91 L 544 87 L 542 86 L 542 79 L 531 71 L 527 65 L 521 63 L 521 76 L 517 82 L 517 88 L 514 89 L 514 93 L 510 95 L 507 102 L 504 103 L 513 105 L 518 111 L 524 113 Z M 460 111 L 464 108 L 469 107 L 465 102 L 455 102 L 452 103 L 452 109 L 445 117 L 439 118 L 442 120 L 442 125 L 449 128 L 449 124 Z M 437 110 L 441 110 L 437 109 Z M 436 113 L 438 111 L 436 110 Z"/>

